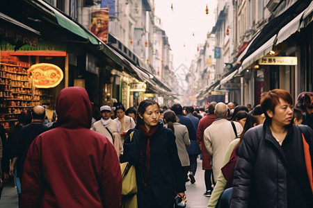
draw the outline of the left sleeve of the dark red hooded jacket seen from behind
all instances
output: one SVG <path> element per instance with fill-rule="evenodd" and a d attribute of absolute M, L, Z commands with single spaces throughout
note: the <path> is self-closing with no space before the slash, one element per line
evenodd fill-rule
<path fill-rule="evenodd" d="M 29 147 L 22 180 L 22 207 L 40 207 L 42 196 L 42 168 L 40 162 L 40 137 Z"/>

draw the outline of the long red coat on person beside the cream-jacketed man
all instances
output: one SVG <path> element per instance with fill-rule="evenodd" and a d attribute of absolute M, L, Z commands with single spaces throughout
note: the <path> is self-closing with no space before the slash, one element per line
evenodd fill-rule
<path fill-rule="evenodd" d="M 203 133 L 204 130 L 211 125 L 215 121 L 216 117 L 214 114 L 207 114 L 199 121 L 198 129 L 197 129 L 197 142 L 199 146 L 201 146 L 202 152 L 202 170 L 211 170 L 211 155 L 207 152 L 207 148 L 205 148 Z"/>

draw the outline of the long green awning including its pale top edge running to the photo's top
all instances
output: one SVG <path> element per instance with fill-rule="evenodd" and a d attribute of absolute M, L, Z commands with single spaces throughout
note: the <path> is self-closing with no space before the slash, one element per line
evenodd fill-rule
<path fill-rule="evenodd" d="M 93 33 L 87 31 L 85 28 L 83 28 L 83 26 L 80 26 L 79 24 L 74 22 L 72 19 L 70 19 L 70 17 L 63 15 L 63 13 L 56 10 L 56 8 L 50 6 L 49 3 L 46 3 L 45 1 L 42 0 L 37 0 L 37 2 L 34 1 L 34 3 L 40 3 L 49 10 L 51 10 L 51 12 L 53 12 L 54 16 L 56 17 L 58 24 L 63 28 L 67 29 L 68 31 L 76 35 L 79 35 L 80 37 L 85 38 L 86 40 L 89 40 L 92 44 L 95 45 L 99 44 L 99 40 L 97 39 L 97 37 L 93 35 Z"/>

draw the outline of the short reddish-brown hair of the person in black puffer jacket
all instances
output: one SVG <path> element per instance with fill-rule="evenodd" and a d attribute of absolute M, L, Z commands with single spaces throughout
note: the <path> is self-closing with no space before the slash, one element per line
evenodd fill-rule
<path fill-rule="evenodd" d="M 264 92 L 261 98 L 261 108 L 264 112 L 266 119 L 271 119 L 266 113 L 267 110 L 271 110 L 274 113 L 275 106 L 280 103 L 280 98 L 286 101 L 290 105 L 293 105 L 291 94 L 284 89 L 273 89 L 268 92 Z"/>

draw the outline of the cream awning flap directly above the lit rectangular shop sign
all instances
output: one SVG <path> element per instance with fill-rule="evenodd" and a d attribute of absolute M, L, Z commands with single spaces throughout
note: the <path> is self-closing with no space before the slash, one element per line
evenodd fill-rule
<path fill-rule="evenodd" d="M 292 19 L 286 26 L 280 29 L 277 35 L 277 41 L 275 45 L 280 44 L 300 29 L 300 19 L 303 16 L 303 13 L 304 11 L 301 12 L 300 15 Z"/>

